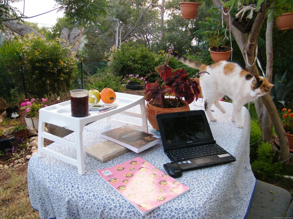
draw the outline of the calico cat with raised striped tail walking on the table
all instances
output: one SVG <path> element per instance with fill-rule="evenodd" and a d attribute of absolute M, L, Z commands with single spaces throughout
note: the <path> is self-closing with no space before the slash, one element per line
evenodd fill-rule
<path fill-rule="evenodd" d="M 203 98 L 205 98 L 205 110 L 210 121 L 217 121 L 211 113 L 213 104 L 222 113 L 226 113 L 225 109 L 219 104 L 219 100 L 227 95 L 233 100 L 231 121 L 235 121 L 238 128 L 243 128 L 243 124 L 241 124 L 242 106 L 267 94 L 274 86 L 264 77 L 252 76 L 235 62 L 220 61 L 212 65 L 205 65 L 177 53 L 172 53 L 172 56 L 189 67 L 207 72 L 200 76 L 200 87 L 202 88 Z"/>

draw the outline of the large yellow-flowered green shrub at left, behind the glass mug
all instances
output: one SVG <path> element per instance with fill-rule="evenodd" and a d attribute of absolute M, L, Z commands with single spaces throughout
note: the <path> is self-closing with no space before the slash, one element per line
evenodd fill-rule
<path fill-rule="evenodd" d="M 77 60 L 61 39 L 45 40 L 31 34 L 19 40 L 27 91 L 39 98 L 50 92 L 68 91 L 76 77 Z"/>

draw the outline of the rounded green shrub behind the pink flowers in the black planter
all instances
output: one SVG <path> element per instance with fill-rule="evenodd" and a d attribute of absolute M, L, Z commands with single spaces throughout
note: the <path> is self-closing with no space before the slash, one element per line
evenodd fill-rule
<path fill-rule="evenodd" d="M 145 77 L 156 67 L 156 55 L 145 46 L 130 46 L 122 44 L 120 49 L 114 49 L 109 55 L 110 67 L 117 76 L 126 74 Z"/>

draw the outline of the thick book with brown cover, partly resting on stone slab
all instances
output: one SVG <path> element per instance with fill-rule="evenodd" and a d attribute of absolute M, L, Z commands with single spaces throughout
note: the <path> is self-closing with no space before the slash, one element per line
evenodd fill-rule
<path fill-rule="evenodd" d="M 161 142 L 161 137 L 129 126 L 101 133 L 101 137 L 139 153 Z"/>

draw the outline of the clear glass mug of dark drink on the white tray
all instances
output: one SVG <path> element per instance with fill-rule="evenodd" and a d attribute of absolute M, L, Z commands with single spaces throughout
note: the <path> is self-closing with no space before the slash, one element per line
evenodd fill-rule
<path fill-rule="evenodd" d="M 73 117 L 86 117 L 88 116 L 88 109 L 97 103 L 95 95 L 88 95 L 87 90 L 72 90 L 70 91 L 71 100 L 71 116 Z M 88 98 L 93 97 L 95 102 L 88 106 Z"/>

